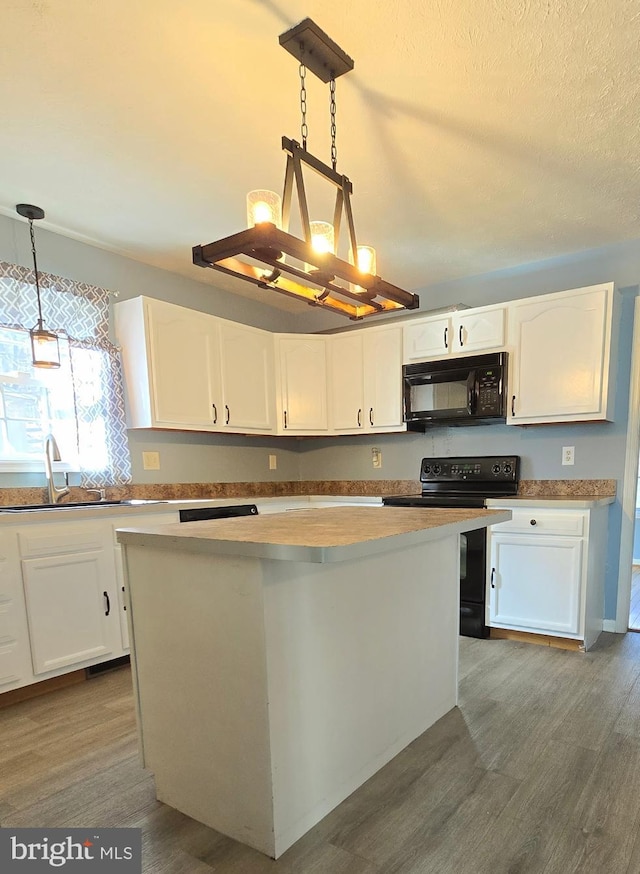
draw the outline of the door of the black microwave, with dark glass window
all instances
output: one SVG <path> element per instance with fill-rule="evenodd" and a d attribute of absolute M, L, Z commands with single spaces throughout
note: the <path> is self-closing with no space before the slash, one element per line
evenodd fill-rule
<path fill-rule="evenodd" d="M 404 370 L 405 421 L 447 422 L 471 419 L 475 412 L 475 370 L 428 369 L 411 373 Z"/>

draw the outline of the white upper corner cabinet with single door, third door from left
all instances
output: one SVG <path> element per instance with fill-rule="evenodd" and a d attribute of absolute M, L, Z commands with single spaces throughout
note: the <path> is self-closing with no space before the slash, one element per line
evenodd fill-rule
<path fill-rule="evenodd" d="M 326 433 L 327 337 L 278 334 L 276 348 L 278 434 Z"/>

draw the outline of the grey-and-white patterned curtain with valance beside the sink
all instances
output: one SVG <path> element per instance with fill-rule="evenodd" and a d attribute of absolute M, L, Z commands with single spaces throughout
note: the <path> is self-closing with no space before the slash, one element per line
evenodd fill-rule
<path fill-rule="evenodd" d="M 109 340 L 109 292 L 38 271 L 45 326 L 67 337 L 81 485 L 131 482 L 122 368 Z M 0 261 L 0 325 L 31 329 L 38 320 L 33 270 Z"/>

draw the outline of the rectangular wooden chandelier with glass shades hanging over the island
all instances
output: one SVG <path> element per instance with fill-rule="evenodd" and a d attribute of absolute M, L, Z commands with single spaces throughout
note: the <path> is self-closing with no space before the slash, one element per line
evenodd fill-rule
<path fill-rule="evenodd" d="M 418 296 L 376 276 L 375 263 L 370 267 L 359 267 L 359 256 L 346 260 L 338 254 L 343 214 L 348 246 L 356 253 L 360 248 L 351 212 L 353 186 L 347 176 L 338 173 L 336 152 L 335 80 L 353 69 L 353 60 L 310 18 L 281 34 L 280 45 L 299 62 L 302 116 L 302 145 L 287 137 L 282 138 L 282 149 L 287 154 L 282 212 L 279 212 L 279 203 L 277 208 L 273 206 L 277 198 L 273 192 L 250 192 L 247 230 L 214 243 L 194 246 L 193 263 L 244 279 L 265 290 L 303 300 L 311 306 L 322 306 L 350 319 L 416 309 L 420 303 Z M 329 83 L 331 166 L 307 151 L 307 70 L 322 82 Z M 328 242 L 321 244 L 321 248 L 314 246 L 312 226 L 315 223 L 309 219 L 305 169 L 313 170 L 336 189 L 333 224 L 329 225 L 333 241 L 331 245 Z M 289 233 L 294 187 L 303 239 Z M 326 238 L 329 238 L 328 231 Z"/>

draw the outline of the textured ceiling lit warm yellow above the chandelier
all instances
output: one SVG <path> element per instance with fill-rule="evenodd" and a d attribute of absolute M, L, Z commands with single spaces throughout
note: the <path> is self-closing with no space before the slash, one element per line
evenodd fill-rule
<path fill-rule="evenodd" d="M 307 16 L 355 60 L 338 170 L 388 281 L 640 237 L 640 0 L 5 0 L 0 212 L 35 203 L 42 227 L 264 300 L 191 247 L 281 190 L 300 115 L 278 36 Z M 328 86 L 307 82 L 328 163 Z"/>

